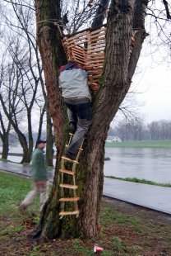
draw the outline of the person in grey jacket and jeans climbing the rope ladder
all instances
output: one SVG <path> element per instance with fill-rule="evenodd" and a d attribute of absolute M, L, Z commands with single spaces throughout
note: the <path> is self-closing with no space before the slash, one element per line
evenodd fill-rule
<path fill-rule="evenodd" d="M 76 159 L 91 121 L 91 96 L 87 83 L 88 69 L 78 65 L 75 61 L 68 63 L 58 70 L 59 88 L 62 88 L 62 97 L 67 105 L 72 142 L 65 150 L 63 157 Z"/>

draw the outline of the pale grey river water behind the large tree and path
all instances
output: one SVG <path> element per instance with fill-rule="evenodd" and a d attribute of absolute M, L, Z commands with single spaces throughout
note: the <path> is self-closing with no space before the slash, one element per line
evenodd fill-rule
<path fill-rule="evenodd" d="M 22 151 L 11 148 L 10 152 Z M 105 156 L 110 158 L 104 163 L 106 176 L 171 183 L 171 149 L 105 148 Z M 21 161 L 21 157 L 16 156 L 9 156 L 8 159 L 16 163 Z"/>

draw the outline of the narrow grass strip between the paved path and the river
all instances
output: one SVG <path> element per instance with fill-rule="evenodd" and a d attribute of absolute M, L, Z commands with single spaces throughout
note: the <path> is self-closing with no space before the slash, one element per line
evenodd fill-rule
<path fill-rule="evenodd" d="M 114 177 L 114 176 L 104 176 L 104 177 L 106 177 L 106 178 L 115 178 L 115 179 L 119 179 L 119 180 L 126 181 L 126 182 L 132 182 L 132 183 L 143 183 L 143 184 L 155 185 L 155 186 L 159 186 L 159 187 L 171 187 L 170 183 L 155 183 L 155 182 L 151 182 L 151 181 L 146 180 L 146 179 L 118 178 L 118 177 Z"/>

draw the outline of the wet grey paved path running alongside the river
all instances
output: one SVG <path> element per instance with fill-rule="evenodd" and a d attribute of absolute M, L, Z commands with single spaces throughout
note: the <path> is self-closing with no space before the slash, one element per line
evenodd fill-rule
<path fill-rule="evenodd" d="M 22 164 L 0 161 L 0 169 L 30 176 L 30 167 Z M 49 170 L 49 180 L 53 181 L 53 169 Z M 159 187 L 104 178 L 103 195 L 171 214 L 171 187 Z"/>

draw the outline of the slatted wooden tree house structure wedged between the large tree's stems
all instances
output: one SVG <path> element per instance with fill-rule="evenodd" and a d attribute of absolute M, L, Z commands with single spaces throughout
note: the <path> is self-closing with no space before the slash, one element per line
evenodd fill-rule
<path fill-rule="evenodd" d="M 67 59 L 95 69 L 89 72 L 88 83 L 92 93 L 98 90 L 99 76 L 104 65 L 105 32 L 106 27 L 102 26 L 100 29 L 86 29 L 67 35 L 62 40 Z"/>

